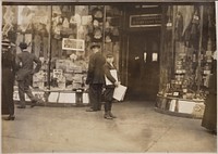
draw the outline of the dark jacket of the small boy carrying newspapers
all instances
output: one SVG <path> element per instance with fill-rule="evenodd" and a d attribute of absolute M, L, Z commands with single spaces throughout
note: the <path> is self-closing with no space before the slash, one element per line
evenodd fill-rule
<path fill-rule="evenodd" d="M 106 88 L 114 88 L 114 82 L 117 81 L 114 79 L 114 77 L 111 75 L 110 70 L 116 69 L 116 66 L 110 65 L 109 63 L 106 63 L 104 66 L 104 70 L 105 70 L 105 77 L 107 77 L 107 79 L 109 79 L 113 85 L 106 85 Z M 118 74 L 117 74 L 118 76 Z M 118 76 L 118 80 L 119 80 L 119 76 Z"/>

